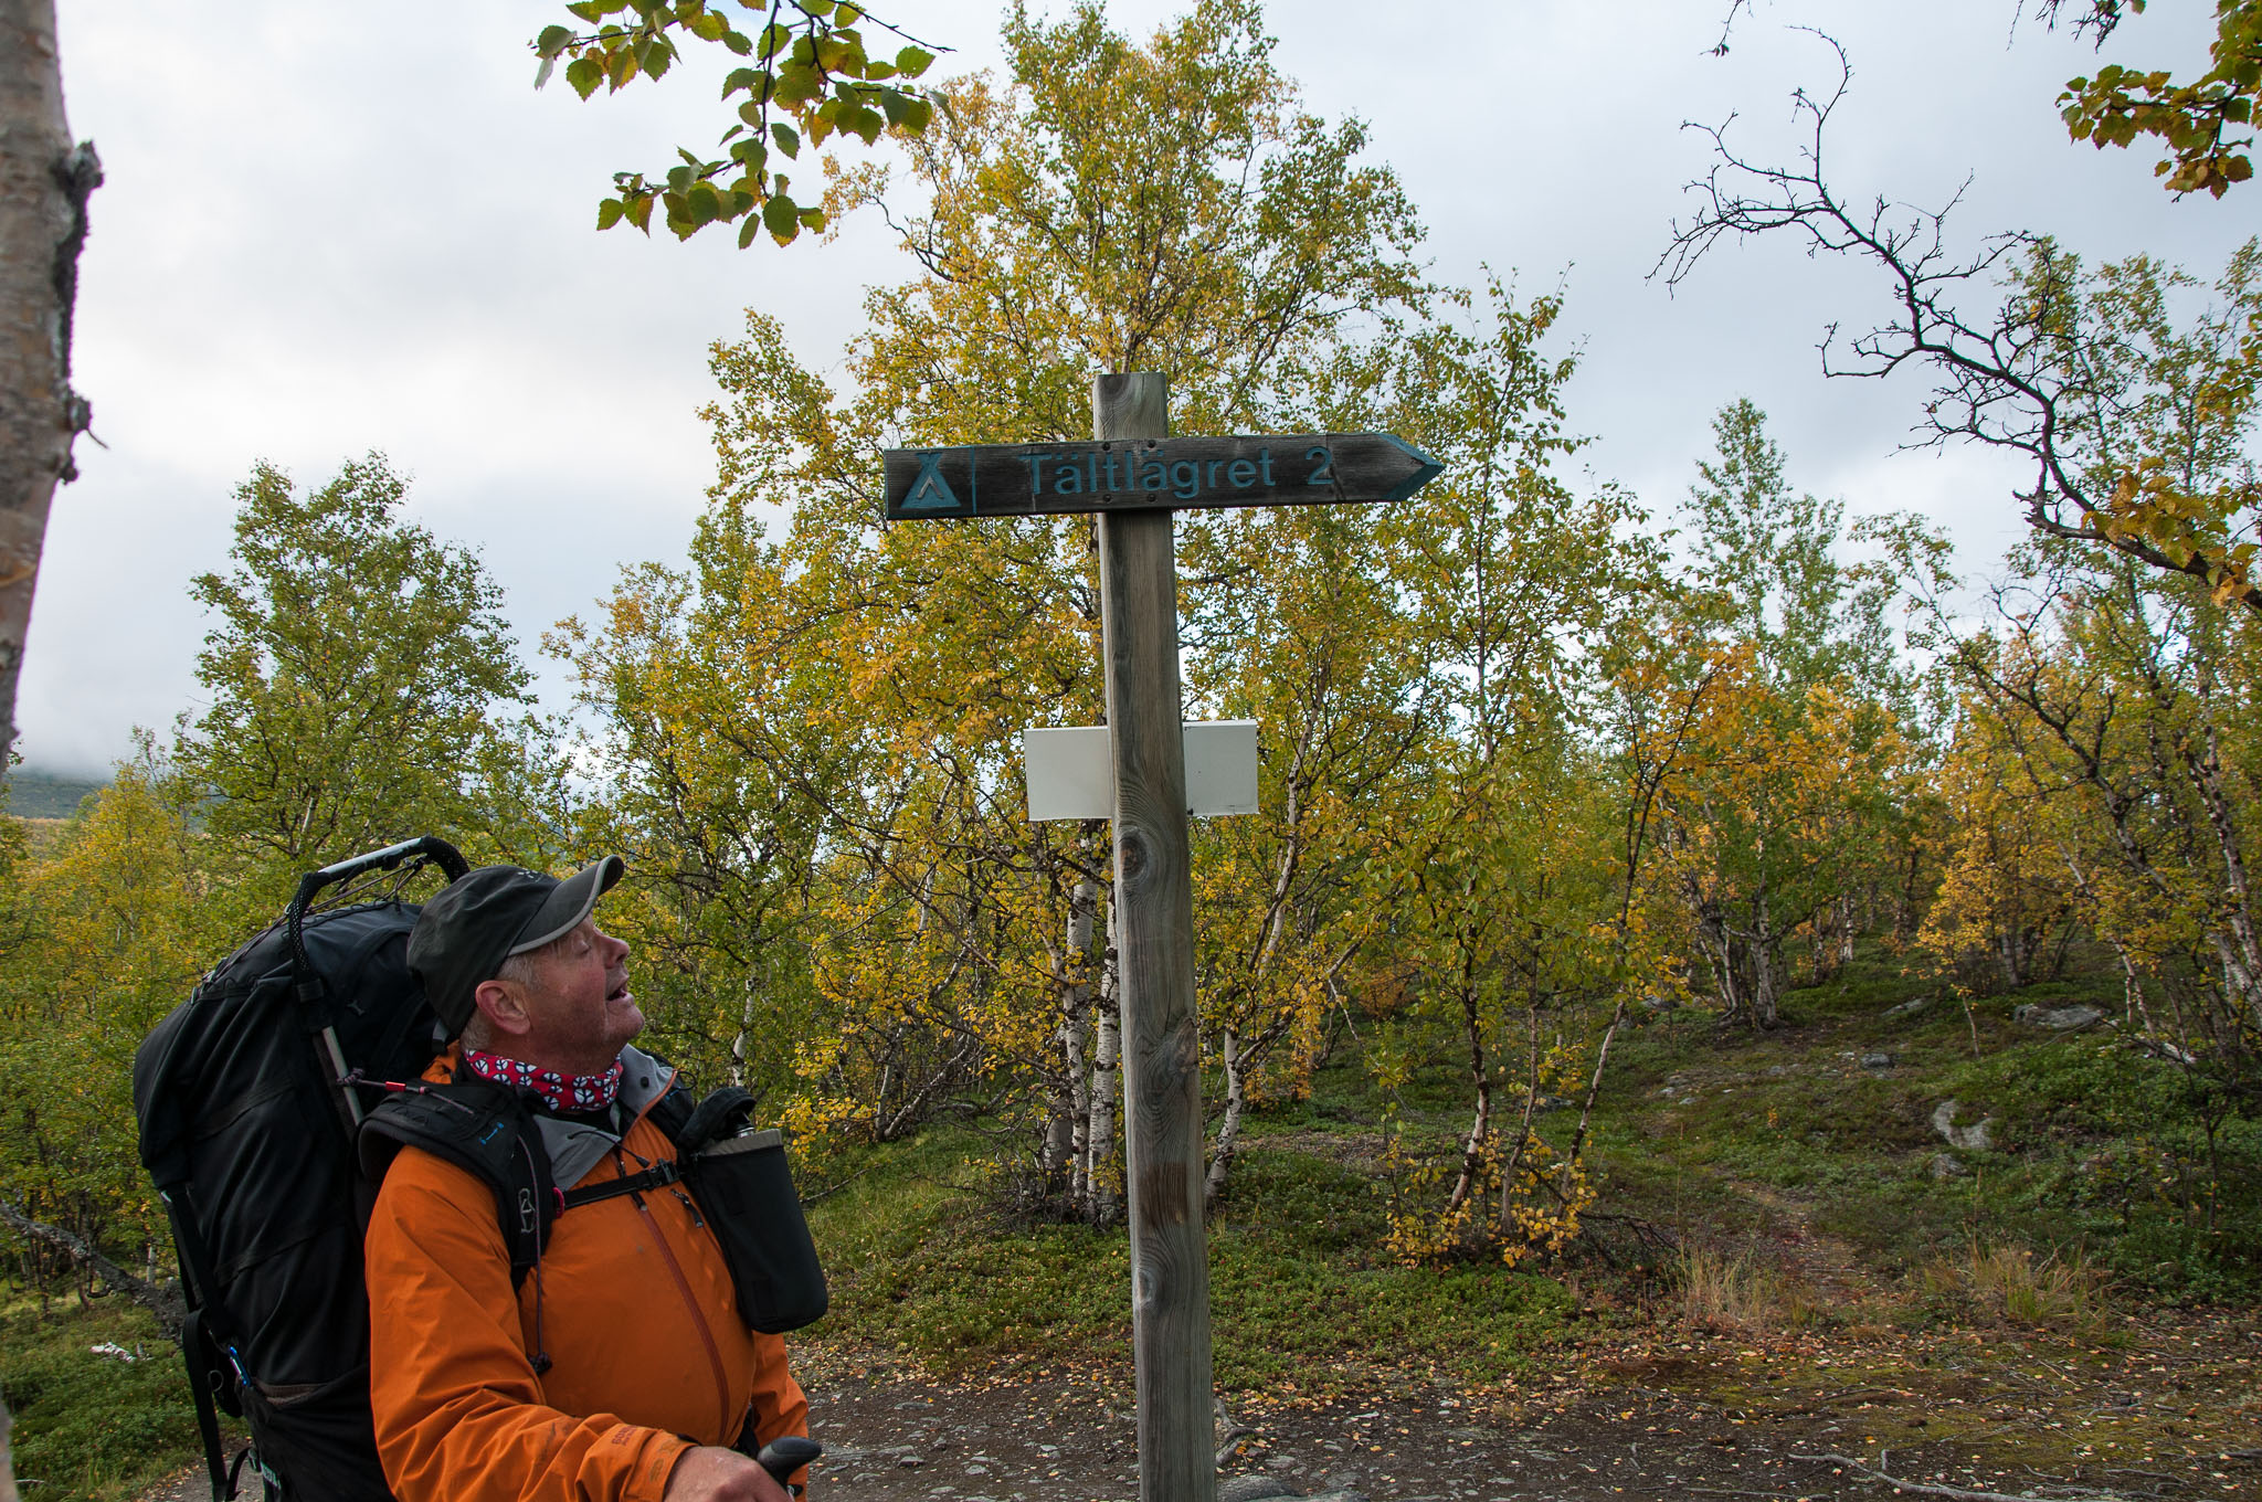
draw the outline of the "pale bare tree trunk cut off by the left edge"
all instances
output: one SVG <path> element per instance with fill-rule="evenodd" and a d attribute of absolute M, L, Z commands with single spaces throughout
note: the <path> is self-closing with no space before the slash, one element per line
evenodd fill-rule
<path fill-rule="evenodd" d="M 0 753 L 54 486 L 88 407 L 70 389 L 70 310 L 86 240 L 93 145 L 70 145 L 54 0 L 0 0 Z"/>

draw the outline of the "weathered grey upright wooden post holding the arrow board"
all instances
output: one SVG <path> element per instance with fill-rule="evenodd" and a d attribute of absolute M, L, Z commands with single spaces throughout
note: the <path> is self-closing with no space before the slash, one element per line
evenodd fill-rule
<path fill-rule="evenodd" d="M 1093 380 L 1093 439 L 1167 439 L 1158 373 Z M 1124 1179 L 1140 1502 L 1212 1502 L 1210 1262 L 1201 1231 L 1201 1018 L 1179 703 L 1169 511 L 1099 518 L 1115 916 L 1124 1027 Z"/>

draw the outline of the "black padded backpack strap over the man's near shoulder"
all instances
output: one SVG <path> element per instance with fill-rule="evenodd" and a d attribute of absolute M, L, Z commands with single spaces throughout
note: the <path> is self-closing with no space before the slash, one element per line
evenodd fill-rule
<path fill-rule="evenodd" d="M 511 1287 L 527 1280 L 550 1242 L 559 1194 L 541 1133 L 511 1090 L 484 1079 L 409 1086 L 369 1113 L 357 1145 L 371 1183 L 385 1179 L 403 1147 L 421 1147 L 482 1181 L 495 1192 Z"/>

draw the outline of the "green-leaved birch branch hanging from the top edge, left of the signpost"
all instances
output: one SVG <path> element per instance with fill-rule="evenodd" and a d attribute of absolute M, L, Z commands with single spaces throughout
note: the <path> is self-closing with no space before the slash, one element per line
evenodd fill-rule
<path fill-rule="evenodd" d="M 740 100 L 737 122 L 722 133 L 722 158 L 676 149 L 683 161 L 667 172 L 615 172 L 613 197 L 597 204 L 597 228 L 622 219 L 651 233 L 654 204 L 676 240 L 708 224 L 740 222 L 740 249 L 760 231 L 789 244 L 803 228 L 826 226 L 823 208 L 803 208 L 792 179 L 774 163 L 801 154 L 803 140 L 855 136 L 864 145 L 882 131 L 916 136 L 934 118 L 939 95 L 912 79 L 925 75 L 934 52 L 909 34 L 846 0 L 737 0 L 760 25 L 742 32 L 722 5 L 706 0 L 579 0 L 566 9 L 593 32 L 543 27 L 534 38 L 541 68 L 534 86 L 550 81 L 559 61 L 566 81 L 588 100 L 597 88 L 620 93 L 633 79 L 665 77 L 683 59 L 685 38 L 719 43 L 749 59 L 724 79 L 724 104 Z M 866 50 L 860 27 L 889 32 L 903 45 L 891 57 Z"/>

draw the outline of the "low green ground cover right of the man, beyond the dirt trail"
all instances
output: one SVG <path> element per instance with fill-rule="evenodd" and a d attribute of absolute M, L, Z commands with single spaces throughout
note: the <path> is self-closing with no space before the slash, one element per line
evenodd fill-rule
<path fill-rule="evenodd" d="M 1751 1312 L 1730 1323 L 2047 1326 L 2108 1298 L 2248 1296 L 2262 1287 L 2255 1124 L 2208 1117 L 2183 1072 L 2110 1027 L 2058 1034 L 2015 1018 L 2074 1002 L 2110 1016 L 2110 1000 L 2077 975 L 1966 1007 L 1864 946 L 1830 982 L 1789 991 L 1769 1031 L 1654 1013 L 1620 1041 L 1597 1102 L 1592 1235 L 1531 1271 L 1387 1255 L 1382 1122 L 1457 1126 L 1457 1061 L 1441 1050 L 1387 1097 L 1346 1043 L 1305 1097 L 1246 1117 L 1210 1224 L 1219 1387 L 1513 1378 L 1597 1332 L 1577 1323 L 1581 1305 L 1617 1310 L 1617 1326 L 1706 1323 L 1721 1301 L 1658 1298 L 1690 1255 L 1735 1274 L 1728 1303 Z M 1934 1113 L 1950 1099 L 1954 1124 L 1988 1122 L 1991 1147 L 1941 1136 Z M 1007 1210 L 984 1133 L 934 1126 L 821 1174 L 853 1179 L 812 1210 L 835 1285 L 819 1339 L 948 1375 L 1022 1362 L 1129 1371 L 1124 1228 Z M 1631 1222 L 1663 1242 L 1629 1240 Z M 2011 1271 L 2018 1287 L 1997 1287 Z M 2067 1278 L 2063 1296 L 2027 1287 Z"/>

